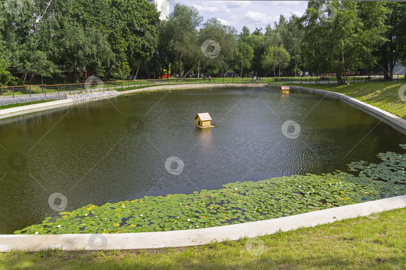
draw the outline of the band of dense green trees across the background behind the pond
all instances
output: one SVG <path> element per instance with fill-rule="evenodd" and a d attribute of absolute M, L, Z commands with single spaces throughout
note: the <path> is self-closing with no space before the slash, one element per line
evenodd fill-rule
<path fill-rule="evenodd" d="M 302 17 L 281 15 L 263 35 L 247 26 L 237 33 L 217 18 L 204 21 L 196 8 L 181 4 L 160 21 L 145 0 L 19 3 L 0 5 L 1 85 L 43 77 L 174 76 L 176 70 L 181 78 L 197 71 L 279 77 L 309 71 L 335 73 L 348 83 L 348 71 L 392 73 L 406 63 L 402 2 L 309 1 Z"/>

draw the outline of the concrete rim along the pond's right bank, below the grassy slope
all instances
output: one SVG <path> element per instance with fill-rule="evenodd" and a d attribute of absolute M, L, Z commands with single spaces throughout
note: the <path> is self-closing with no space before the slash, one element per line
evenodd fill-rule
<path fill-rule="evenodd" d="M 281 85 L 267 85 L 267 87 L 281 87 Z M 308 87 L 302 87 L 302 86 L 289 86 L 291 89 L 297 89 L 297 90 L 304 90 L 310 93 L 316 93 L 316 94 L 323 94 L 325 96 L 331 96 L 331 97 L 336 97 L 339 98 L 343 101 L 346 101 L 350 104 L 355 105 L 356 107 L 372 114 L 373 116 L 377 118 L 382 118 L 382 120 L 385 120 L 385 122 L 392 123 L 396 125 L 397 127 L 400 127 L 402 129 L 402 132 L 406 131 L 406 120 L 394 115 L 392 113 L 389 113 L 385 110 L 382 110 L 378 107 L 375 107 L 373 105 L 370 105 L 368 103 L 365 103 L 363 101 L 357 100 L 356 98 L 337 93 L 337 92 L 332 92 L 332 91 L 327 91 L 327 90 L 321 90 L 321 89 L 315 89 L 315 88 L 308 88 Z"/>

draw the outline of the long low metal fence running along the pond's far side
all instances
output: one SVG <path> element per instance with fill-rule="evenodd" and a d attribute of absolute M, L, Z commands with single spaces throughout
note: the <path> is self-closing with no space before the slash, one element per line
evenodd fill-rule
<path fill-rule="evenodd" d="M 347 77 L 350 83 L 405 83 L 405 75 L 387 74 L 379 75 L 357 75 Z M 148 80 L 130 80 L 114 82 L 92 82 L 81 84 L 61 84 L 61 85 L 26 85 L 0 87 L 0 98 L 17 98 L 49 95 L 65 95 L 75 93 L 85 93 L 92 91 L 117 90 L 125 91 L 137 88 L 148 87 L 152 85 L 171 85 L 171 84 L 204 84 L 204 83 L 301 83 L 301 84 L 333 84 L 337 83 L 335 77 L 315 76 L 315 77 L 267 77 L 267 78 L 170 78 L 170 79 L 148 79 Z"/>

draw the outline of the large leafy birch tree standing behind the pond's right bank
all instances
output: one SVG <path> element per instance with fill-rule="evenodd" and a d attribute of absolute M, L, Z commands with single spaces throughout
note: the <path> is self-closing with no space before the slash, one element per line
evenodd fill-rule
<path fill-rule="evenodd" d="M 318 13 L 323 5 L 329 5 L 329 19 Z M 302 56 L 307 66 L 318 73 L 333 71 L 339 84 L 349 84 L 341 74 L 376 65 L 372 53 L 384 42 L 386 11 L 381 2 L 310 1 L 299 20 L 305 31 Z"/>

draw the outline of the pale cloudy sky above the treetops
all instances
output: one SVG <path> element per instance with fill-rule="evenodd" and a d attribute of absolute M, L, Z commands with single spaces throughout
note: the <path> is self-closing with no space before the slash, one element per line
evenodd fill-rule
<path fill-rule="evenodd" d="M 274 26 L 275 22 L 279 21 L 279 16 L 282 14 L 285 18 L 289 18 L 291 14 L 301 16 L 305 13 L 306 1 L 220 1 L 220 0 L 169 0 L 170 12 L 173 11 L 173 6 L 176 3 L 182 5 L 193 6 L 198 11 L 200 16 L 204 18 L 204 22 L 208 19 L 216 17 L 224 25 L 234 26 L 238 33 L 241 32 L 243 26 L 247 26 L 251 32 L 255 31 L 255 27 L 263 28 L 268 24 Z"/>

